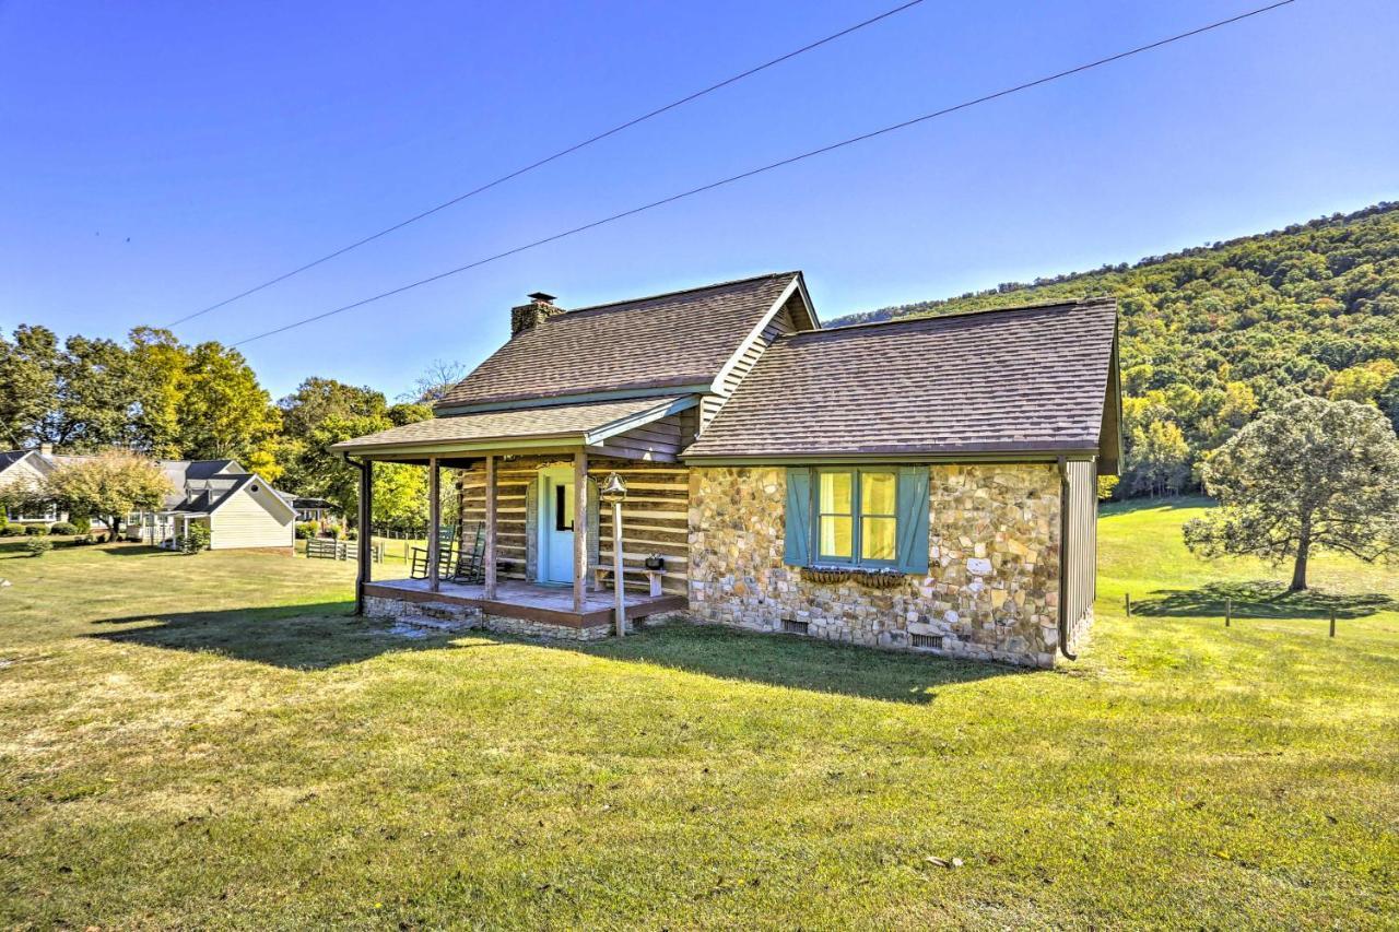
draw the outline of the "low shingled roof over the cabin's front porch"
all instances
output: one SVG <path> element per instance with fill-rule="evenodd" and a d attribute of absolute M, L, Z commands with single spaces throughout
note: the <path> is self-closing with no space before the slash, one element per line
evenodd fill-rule
<path fill-rule="evenodd" d="M 355 437 L 330 449 L 410 462 L 425 456 L 582 449 L 695 403 L 694 396 L 651 396 L 453 414 Z"/>

